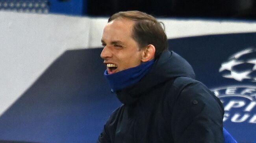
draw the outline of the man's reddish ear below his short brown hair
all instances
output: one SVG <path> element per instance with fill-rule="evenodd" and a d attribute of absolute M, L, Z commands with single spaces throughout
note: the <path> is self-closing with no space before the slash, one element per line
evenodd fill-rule
<path fill-rule="evenodd" d="M 150 44 L 145 49 L 143 49 L 141 62 L 148 62 L 154 59 L 156 48 L 154 45 Z"/>

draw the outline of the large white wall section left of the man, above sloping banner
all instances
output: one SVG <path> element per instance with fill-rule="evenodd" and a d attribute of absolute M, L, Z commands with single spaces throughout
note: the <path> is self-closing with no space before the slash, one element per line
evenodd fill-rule
<path fill-rule="evenodd" d="M 89 18 L 0 12 L 0 115 L 67 49 L 89 47 Z"/>

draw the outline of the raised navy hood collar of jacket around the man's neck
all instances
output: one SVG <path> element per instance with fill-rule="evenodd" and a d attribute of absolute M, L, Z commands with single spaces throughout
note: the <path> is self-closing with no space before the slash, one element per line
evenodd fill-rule
<path fill-rule="evenodd" d="M 124 104 L 132 104 L 141 94 L 152 87 L 179 76 L 195 78 L 189 63 L 173 51 L 163 51 L 150 71 L 135 85 L 117 92 L 117 98 Z"/>

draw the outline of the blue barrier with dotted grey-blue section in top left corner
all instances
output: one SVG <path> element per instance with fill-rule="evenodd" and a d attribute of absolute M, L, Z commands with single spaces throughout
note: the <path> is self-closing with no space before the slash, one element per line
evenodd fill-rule
<path fill-rule="evenodd" d="M 87 14 L 87 0 L 0 0 L 1 10 L 82 16 Z"/>

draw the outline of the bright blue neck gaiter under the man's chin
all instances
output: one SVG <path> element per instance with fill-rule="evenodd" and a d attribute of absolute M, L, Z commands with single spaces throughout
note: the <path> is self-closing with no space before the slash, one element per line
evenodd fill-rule
<path fill-rule="evenodd" d="M 147 74 L 150 67 L 153 65 L 154 60 L 141 63 L 137 67 L 132 67 L 130 69 L 125 69 L 123 71 L 108 74 L 106 70 L 104 76 L 107 78 L 108 83 L 111 87 L 111 91 L 116 92 L 131 85 L 134 85 L 141 80 Z"/>

